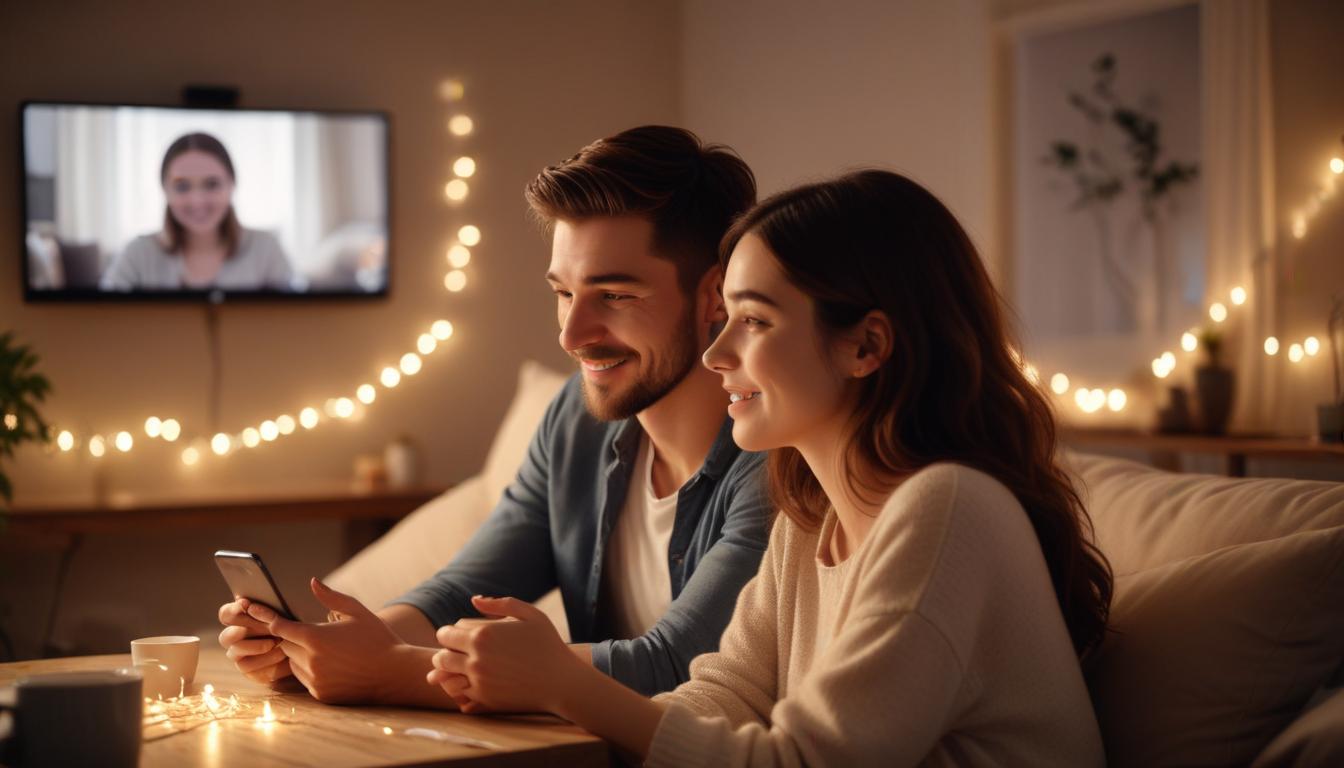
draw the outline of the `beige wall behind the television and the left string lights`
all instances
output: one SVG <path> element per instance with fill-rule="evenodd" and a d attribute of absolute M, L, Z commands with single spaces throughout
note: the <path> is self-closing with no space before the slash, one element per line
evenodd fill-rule
<path fill-rule="evenodd" d="M 391 299 L 226 305 L 226 429 L 320 402 L 370 381 L 448 317 L 457 335 L 362 424 L 335 424 L 194 469 L 179 448 L 141 438 L 102 461 L 113 492 L 247 491 L 341 482 L 352 457 L 409 434 L 425 475 L 474 473 L 513 391 L 519 363 L 556 367 L 546 241 L 526 219 L 523 184 L 582 144 L 677 118 L 677 16 L 671 1 L 172 1 L 0 4 L 0 328 L 42 355 L 54 391 L 44 414 L 81 432 L 137 429 L 175 416 L 203 429 L 203 311 L 185 305 L 26 304 L 19 281 L 15 132 L 24 98 L 171 104 L 188 82 L 233 83 L 243 106 L 383 109 L 392 120 Z M 445 77 L 466 83 L 477 130 L 445 130 Z M 478 160 L 472 195 L 442 202 L 458 152 Z M 457 226 L 484 231 L 458 295 L 442 288 Z M 89 496 L 86 453 L 23 449 L 7 471 L 17 499 Z M 0 547 L 4 543 L 0 542 Z M 333 525 L 247 526 L 190 534 L 90 537 L 73 561 L 55 640 L 121 647 L 137 633 L 207 627 L 226 596 L 210 553 L 269 553 L 290 600 L 340 560 Z M 52 551 L 0 549 L 0 623 L 20 655 L 36 651 L 56 572 Z M 145 566 L 148 564 L 148 566 Z M 169 576 L 171 574 L 171 576 Z M 165 578 L 165 576 L 169 576 Z"/>

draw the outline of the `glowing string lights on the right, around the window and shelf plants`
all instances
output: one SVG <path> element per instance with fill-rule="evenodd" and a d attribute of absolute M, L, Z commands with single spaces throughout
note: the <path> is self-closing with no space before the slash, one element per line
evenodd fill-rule
<path fill-rule="evenodd" d="M 1335 198 L 1336 176 L 1344 174 L 1344 159 L 1332 157 L 1328 163 L 1329 174 L 1324 176 L 1321 188 L 1314 192 L 1310 199 L 1302 207 L 1297 208 L 1292 214 L 1292 233 L 1297 239 L 1306 237 L 1308 225 L 1320 215 L 1322 204 Z M 1227 300 L 1231 304 L 1224 304 L 1223 301 L 1212 301 L 1208 304 L 1207 312 L 1208 319 L 1214 321 L 1215 325 L 1222 325 L 1227 321 L 1230 313 L 1236 308 L 1246 304 L 1250 297 L 1246 288 L 1236 285 L 1227 292 Z M 1193 352 L 1199 348 L 1199 335 L 1196 330 L 1189 330 L 1181 334 L 1180 348 L 1185 352 Z M 1262 344 L 1265 354 L 1269 356 L 1277 356 L 1284 348 L 1284 343 L 1278 336 L 1266 336 Z M 1285 356 L 1289 363 L 1297 364 L 1306 358 L 1314 358 L 1321 351 L 1321 340 L 1317 336 L 1306 336 L 1305 339 L 1288 343 L 1288 351 Z M 1017 352 L 1013 351 L 1013 359 L 1017 360 L 1023 370 L 1023 374 L 1032 382 L 1040 382 L 1039 369 L 1030 363 L 1028 360 L 1019 358 Z M 1177 359 L 1176 354 L 1171 350 L 1164 350 L 1159 356 L 1152 360 L 1153 377 L 1159 379 L 1168 378 L 1176 370 Z M 1124 389 L 1111 387 L 1109 391 L 1103 389 L 1089 389 L 1085 386 L 1075 386 L 1078 383 L 1077 378 L 1070 378 L 1064 371 L 1055 373 L 1050 377 L 1050 391 L 1055 393 L 1060 398 L 1066 397 L 1073 387 L 1073 404 L 1078 410 L 1083 413 L 1097 413 L 1106 408 L 1111 412 L 1124 410 L 1129 401 Z"/>

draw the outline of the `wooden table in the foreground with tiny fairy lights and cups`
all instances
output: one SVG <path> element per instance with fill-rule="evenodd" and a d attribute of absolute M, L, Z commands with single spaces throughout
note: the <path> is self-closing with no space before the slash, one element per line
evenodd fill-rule
<path fill-rule="evenodd" d="M 13 662 L 0 664 L 0 686 L 26 675 L 129 664 L 130 654 Z M 206 683 L 214 689 L 208 697 Z M 250 682 L 218 648 L 202 648 L 187 693 L 177 702 L 146 705 L 142 767 L 609 764 L 601 738 L 559 718 L 324 705 L 306 693 L 280 694 Z M 79 737 L 78 724 L 71 737 Z"/>

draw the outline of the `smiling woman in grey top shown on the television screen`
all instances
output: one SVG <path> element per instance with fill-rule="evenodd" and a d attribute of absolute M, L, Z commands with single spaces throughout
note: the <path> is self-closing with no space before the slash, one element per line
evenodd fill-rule
<path fill-rule="evenodd" d="M 293 270 L 280 241 L 238 223 L 234 164 L 218 139 L 173 141 L 159 180 L 168 200 L 163 231 L 130 241 L 103 273 L 103 291 L 289 291 Z"/>

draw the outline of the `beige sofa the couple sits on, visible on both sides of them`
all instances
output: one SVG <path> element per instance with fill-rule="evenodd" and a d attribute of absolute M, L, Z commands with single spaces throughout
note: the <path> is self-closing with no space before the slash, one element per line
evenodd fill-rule
<path fill-rule="evenodd" d="M 448 562 L 523 460 L 564 377 L 536 363 L 485 467 L 329 578 L 382 604 Z M 1087 668 L 1111 765 L 1344 765 L 1344 484 L 1068 463 L 1116 572 Z M 566 629 L 552 593 L 539 603 Z"/>

